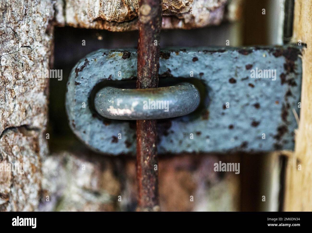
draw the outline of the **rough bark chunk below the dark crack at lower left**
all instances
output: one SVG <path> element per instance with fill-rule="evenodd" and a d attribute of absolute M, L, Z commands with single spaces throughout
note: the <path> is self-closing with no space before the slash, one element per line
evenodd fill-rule
<path fill-rule="evenodd" d="M 0 139 L 2 164 L 20 164 L 16 172 L 0 171 L 0 211 L 36 211 L 41 201 L 41 161 L 46 154 L 41 130 L 17 127 Z"/>

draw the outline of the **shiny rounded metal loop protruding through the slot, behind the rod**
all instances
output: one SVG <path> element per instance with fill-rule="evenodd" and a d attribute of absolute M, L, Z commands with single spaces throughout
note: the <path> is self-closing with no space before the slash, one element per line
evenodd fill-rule
<path fill-rule="evenodd" d="M 95 95 L 95 110 L 117 120 L 151 120 L 179 117 L 199 105 L 197 88 L 191 83 L 148 89 L 105 87 Z"/>

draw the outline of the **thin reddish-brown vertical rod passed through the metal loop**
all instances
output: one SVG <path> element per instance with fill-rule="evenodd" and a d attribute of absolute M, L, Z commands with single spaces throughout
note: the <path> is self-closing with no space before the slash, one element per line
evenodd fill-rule
<path fill-rule="evenodd" d="M 139 4 L 137 88 L 156 88 L 159 70 L 159 40 L 162 23 L 161 0 Z M 159 211 L 156 120 L 139 120 L 137 129 L 137 211 Z"/>

